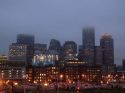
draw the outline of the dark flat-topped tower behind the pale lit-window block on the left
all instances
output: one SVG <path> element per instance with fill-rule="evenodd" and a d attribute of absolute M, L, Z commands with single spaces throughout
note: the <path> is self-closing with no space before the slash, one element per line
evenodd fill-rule
<path fill-rule="evenodd" d="M 34 57 L 34 42 L 35 38 L 34 35 L 29 34 L 18 34 L 17 35 L 17 44 L 24 44 L 27 46 L 27 54 L 26 54 L 26 73 L 29 76 L 31 76 L 33 73 L 32 71 L 32 60 Z"/>

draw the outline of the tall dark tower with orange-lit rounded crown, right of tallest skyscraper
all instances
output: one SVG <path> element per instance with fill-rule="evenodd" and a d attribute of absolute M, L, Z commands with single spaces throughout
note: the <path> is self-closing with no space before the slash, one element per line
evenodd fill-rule
<path fill-rule="evenodd" d="M 100 39 L 100 46 L 103 51 L 103 64 L 113 65 L 114 64 L 114 44 L 113 38 L 109 34 L 102 35 Z"/>

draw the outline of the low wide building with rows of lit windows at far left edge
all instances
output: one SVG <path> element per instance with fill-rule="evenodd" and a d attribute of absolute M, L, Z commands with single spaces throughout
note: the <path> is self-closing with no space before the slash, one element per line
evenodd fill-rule
<path fill-rule="evenodd" d="M 23 65 L 22 65 L 23 64 Z M 7 56 L 0 55 L 0 79 L 7 80 L 24 80 L 25 67 L 22 61 L 8 61 Z"/>

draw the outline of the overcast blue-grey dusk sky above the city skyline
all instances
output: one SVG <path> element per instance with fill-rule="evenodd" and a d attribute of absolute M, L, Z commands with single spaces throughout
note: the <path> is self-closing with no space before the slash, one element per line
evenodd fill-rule
<path fill-rule="evenodd" d="M 125 58 L 125 0 L 0 0 L 0 54 L 19 33 L 37 43 L 57 39 L 82 44 L 82 29 L 93 26 L 96 44 L 103 33 L 114 38 L 115 63 Z"/>

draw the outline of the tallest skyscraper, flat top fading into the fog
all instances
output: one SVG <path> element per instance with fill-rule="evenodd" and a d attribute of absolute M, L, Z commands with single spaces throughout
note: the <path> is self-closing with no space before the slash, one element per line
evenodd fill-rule
<path fill-rule="evenodd" d="M 95 48 L 95 30 L 93 27 L 85 27 L 83 29 L 83 60 L 89 64 L 94 63 L 94 48 Z"/>

